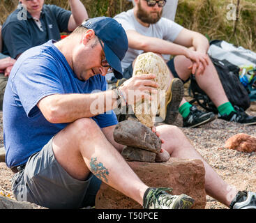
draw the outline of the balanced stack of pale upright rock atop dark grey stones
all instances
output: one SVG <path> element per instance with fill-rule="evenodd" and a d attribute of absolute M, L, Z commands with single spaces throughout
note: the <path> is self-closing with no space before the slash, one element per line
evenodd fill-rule
<path fill-rule="evenodd" d="M 152 132 L 156 114 L 165 120 L 165 94 L 170 84 L 170 71 L 165 61 L 152 52 L 137 56 L 133 76 L 156 74 L 157 94 L 153 100 L 141 99 L 132 105 L 137 121 L 123 121 L 114 130 L 114 140 L 125 145 L 122 155 L 128 161 L 166 162 L 169 153 L 161 149 L 161 140 Z"/>

